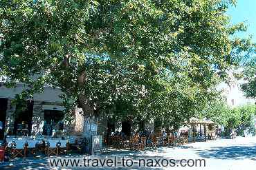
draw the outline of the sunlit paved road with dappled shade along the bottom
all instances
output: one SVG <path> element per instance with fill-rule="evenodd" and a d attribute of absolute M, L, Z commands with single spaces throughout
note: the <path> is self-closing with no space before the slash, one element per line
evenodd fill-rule
<path fill-rule="evenodd" d="M 219 139 L 208 142 L 196 142 L 192 144 L 185 145 L 183 147 L 174 147 L 174 148 L 158 148 L 158 149 L 148 149 L 143 152 L 135 152 L 135 151 L 111 151 L 111 154 L 106 154 L 104 156 L 100 156 L 100 160 L 98 160 L 98 164 L 107 163 L 104 162 L 104 158 L 112 159 L 116 162 L 122 162 L 122 158 L 124 158 L 124 165 L 120 163 L 116 163 L 117 167 L 105 167 L 101 168 L 92 168 L 93 160 L 89 162 L 89 167 L 84 167 L 84 157 L 73 156 L 73 159 L 79 160 L 80 163 L 78 167 L 51 167 L 49 166 L 48 159 L 46 158 L 34 158 L 34 159 L 18 159 L 14 162 L 8 162 L 8 164 L 0 164 L 0 169 L 212 169 L 212 170 L 250 170 L 256 169 L 256 138 L 242 138 L 238 137 L 236 139 Z M 55 157 L 56 158 L 56 157 Z M 57 157 L 63 158 L 63 157 Z M 99 157 L 90 157 L 91 159 L 99 159 Z M 86 157 L 86 159 L 88 159 Z M 131 160 L 134 161 L 134 165 L 132 167 L 128 167 L 131 165 Z M 144 160 L 145 162 L 143 162 Z M 186 159 L 187 161 L 183 160 Z M 170 161 L 172 160 L 172 164 Z M 174 161 L 175 160 L 175 161 Z M 181 160 L 182 163 L 181 163 Z M 204 161 L 205 160 L 205 167 Z M 88 161 L 88 160 L 86 160 Z M 102 161 L 102 162 L 99 162 Z M 168 162 L 167 162 L 168 161 Z M 138 167 L 138 163 L 140 162 L 140 167 Z M 159 164 L 157 164 L 157 162 Z M 161 164 L 163 162 L 163 164 Z M 200 162 L 201 166 L 200 167 Z M 87 162 L 86 162 L 87 163 Z M 168 166 L 165 167 L 168 163 Z M 190 166 L 196 164 L 197 167 L 182 167 L 185 164 L 189 164 Z M 88 164 L 86 164 L 88 165 Z M 97 165 L 97 162 L 94 161 L 94 165 Z M 109 164 L 111 165 L 111 164 Z M 144 167 L 144 165 L 148 165 L 149 167 Z M 160 165 L 160 166 L 159 166 Z M 152 167 L 156 166 L 156 167 Z M 172 166 L 172 167 L 171 167 Z M 174 166 L 174 167 L 173 167 Z"/>

